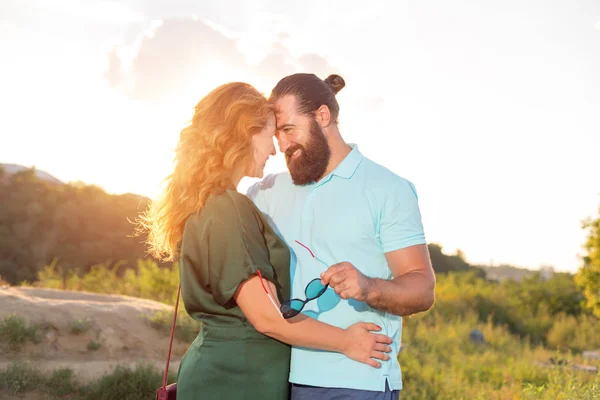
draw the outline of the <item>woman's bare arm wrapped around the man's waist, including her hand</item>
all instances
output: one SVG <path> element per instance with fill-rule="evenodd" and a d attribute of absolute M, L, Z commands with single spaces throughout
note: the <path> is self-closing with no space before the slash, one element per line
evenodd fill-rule
<path fill-rule="evenodd" d="M 270 293 L 276 293 L 272 282 L 263 280 L 263 283 Z M 277 308 L 269 300 L 256 275 L 242 282 L 234 294 L 238 306 L 256 330 L 274 339 L 294 346 L 343 353 L 374 368 L 381 366 L 374 358 L 389 359 L 386 353 L 391 351 L 389 344 L 392 339 L 371 333 L 381 330 L 377 325 L 359 322 L 342 329 L 303 314 L 286 320 L 279 312 L 277 296 L 271 297 Z"/>

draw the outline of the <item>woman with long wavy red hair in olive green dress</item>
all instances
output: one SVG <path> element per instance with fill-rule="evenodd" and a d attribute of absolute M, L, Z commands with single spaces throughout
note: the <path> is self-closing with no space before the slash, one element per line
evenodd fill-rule
<path fill-rule="evenodd" d="M 389 358 L 391 339 L 371 333 L 374 324 L 340 329 L 280 314 L 288 247 L 236 191 L 242 177 L 263 176 L 274 134 L 272 106 L 256 89 L 216 88 L 196 105 L 163 196 L 142 218 L 151 252 L 179 260 L 185 309 L 203 322 L 181 361 L 178 399 L 287 399 L 290 344 L 373 367 Z"/>

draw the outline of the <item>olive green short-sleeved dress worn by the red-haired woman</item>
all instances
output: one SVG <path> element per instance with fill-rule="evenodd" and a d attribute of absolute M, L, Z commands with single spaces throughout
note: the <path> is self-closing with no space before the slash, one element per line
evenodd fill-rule
<path fill-rule="evenodd" d="M 289 262 L 287 245 L 235 190 L 212 196 L 188 218 L 181 294 L 202 328 L 181 360 L 178 400 L 289 398 L 290 346 L 254 329 L 233 298 L 238 285 L 260 269 L 279 300 L 288 299 Z"/>

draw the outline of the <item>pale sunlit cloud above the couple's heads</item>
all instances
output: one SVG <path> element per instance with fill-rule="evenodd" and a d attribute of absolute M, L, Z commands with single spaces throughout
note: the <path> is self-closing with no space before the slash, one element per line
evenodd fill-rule
<path fill-rule="evenodd" d="M 105 77 L 130 97 L 154 100 L 178 93 L 195 81 L 216 86 L 224 82 L 215 81 L 225 76 L 274 84 L 295 72 L 312 72 L 323 78 L 338 72 L 325 57 L 314 53 L 294 57 L 279 42 L 253 65 L 239 43 L 235 35 L 208 21 L 166 19 L 140 33 L 129 46 L 113 48 L 107 55 Z"/>

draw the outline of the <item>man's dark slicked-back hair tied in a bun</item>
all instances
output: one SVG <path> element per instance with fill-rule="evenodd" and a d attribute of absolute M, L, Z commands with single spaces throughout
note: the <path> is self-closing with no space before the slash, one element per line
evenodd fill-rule
<path fill-rule="evenodd" d="M 326 105 L 331 113 L 331 120 L 337 124 L 340 106 L 335 95 L 344 86 L 344 79 L 335 74 L 329 75 L 325 80 L 319 79 L 315 74 L 294 74 L 277 83 L 269 101 L 292 94 L 298 100 L 298 112 L 301 114 L 313 114 L 319 107 Z"/>

